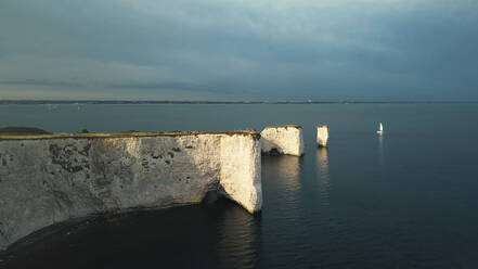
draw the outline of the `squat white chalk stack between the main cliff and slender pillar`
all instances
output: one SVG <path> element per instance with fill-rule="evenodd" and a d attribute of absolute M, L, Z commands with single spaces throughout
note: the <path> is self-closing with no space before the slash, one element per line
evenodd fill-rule
<path fill-rule="evenodd" d="M 262 152 L 301 156 L 303 154 L 302 128 L 298 125 L 266 127 L 260 132 Z"/>

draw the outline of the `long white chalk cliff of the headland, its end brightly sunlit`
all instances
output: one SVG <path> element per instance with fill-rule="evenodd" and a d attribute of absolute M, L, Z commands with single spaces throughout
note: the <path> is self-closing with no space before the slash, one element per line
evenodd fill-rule
<path fill-rule="evenodd" d="M 0 249 L 91 214 L 199 203 L 260 210 L 257 133 L 0 140 Z"/>

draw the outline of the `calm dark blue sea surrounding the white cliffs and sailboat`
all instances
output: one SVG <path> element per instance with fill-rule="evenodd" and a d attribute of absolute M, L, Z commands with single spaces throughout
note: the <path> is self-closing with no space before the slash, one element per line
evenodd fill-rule
<path fill-rule="evenodd" d="M 0 268 L 478 268 L 478 104 L 0 105 L 0 126 L 50 131 L 281 124 L 303 127 L 306 155 L 262 157 L 261 215 L 219 201 L 79 221 Z"/>

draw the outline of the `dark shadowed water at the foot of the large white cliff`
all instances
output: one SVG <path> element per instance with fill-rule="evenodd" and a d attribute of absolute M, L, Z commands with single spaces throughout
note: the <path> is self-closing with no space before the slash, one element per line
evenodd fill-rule
<path fill-rule="evenodd" d="M 0 268 L 255 268 L 259 248 L 260 215 L 218 200 L 51 228 L 0 254 Z"/>

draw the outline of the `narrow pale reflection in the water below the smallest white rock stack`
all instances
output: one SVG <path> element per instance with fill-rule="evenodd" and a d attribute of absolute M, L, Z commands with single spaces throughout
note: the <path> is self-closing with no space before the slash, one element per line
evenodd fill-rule
<path fill-rule="evenodd" d="M 328 172 L 328 150 L 319 148 L 316 150 L 318 178 L 321 192 L 321 206 L 328 207 L 331 202 L 331 176 Z"/>

